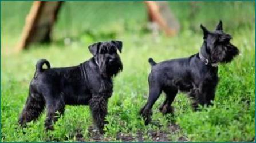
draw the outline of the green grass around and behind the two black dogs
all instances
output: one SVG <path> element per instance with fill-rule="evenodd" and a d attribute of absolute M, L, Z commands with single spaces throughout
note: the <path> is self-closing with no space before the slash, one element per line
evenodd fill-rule
<path fill-rule="evenodd" d="M 88 106 L 66 106 L 65 116 L 56 122 L 53 132 L 44 130 L 45 113 L 23 130 L 17 120 L 38 59 L 48 59 L 52 67 L 78 65 L 92 56 L 87 47 L 90 43 L 112 38 L 123 41 L 120 56 L 124 69 L 114 80 L 114 93 L 108 103 L 109 124 L 105 126 L 103 141 L 121 141 L 117 140 L 119 133 L 133 136 L 133 141 L 137 141 L 138 132 L 143 134 L 144 141 L 153 141 L 149 132 L 170 132 L 170 124 L 180 126 L 176 132 L 167 134 L 171 141 L 180 141 L 181 137 L 188 141 L 255 140 L 255 13 L 251 12 L 255 11 L 255 3 L 199 2 L 196 18 L 190 19 L 188 15 L 191 11 L 186 9 L 184 13 L 179 13 L 184 7 L 190 8 L 190 3 L 172 2 L 170 6 L 174 13 L 179 13 L 177 17 L 182 31 L 172 38 L 160 34 L 157 37 L 159 40 L 155 40 L 144 28 L 147 15 L 142 2 L 126 2 L 126 6 L 121 2 L 111 2 L 105 9 L 104 2 L 90 2 L 84 8 L 82 3 L 86 2 L 67 2 L 62 7 L 53 43 L 34 45 L 30 50 L 17 54 L 12 51 L 31 2 L 1 2 L 1 141 L 78 141 L 77 134 L 82 134 L 84 141 L 93 141 L 88 131 L 92 124 Z M 211 10 L 207 12 L 204 6 L 210 4 Z M 218 7 L 219 4 L 222 6 Z M 98 10 L 92 12 L 96 8 Z M 70 16 L 65 14 L 67 9 Z M 15 14 L 10 16 L 11 10 L 19 13 L 20 17 Z M 212 10 L 222 12 L 222 15 L 218 17 Z M 243 11 L 239 13 L 239 10 Z M 81 11 L 88 13 L 88 17 Z M 115 11 L 120 13 L 112 15 Z M 211 16 L 204 17 L 203 13 Z M 119 19 L 113 22 L 116 17 Z M 235 20 L 231 23 L 232 18 Z M 179 93 L 172 104 L 175 116 L 162 116 L 158 110 L 164 100 L 162 95 L 153 106 L 152 118 L 156 125 L 145 126 L 137 113 L 148 97 L 147 76 L 151 67 L 147 59 L 152 57 L 160 62 L 198 52 L 202 44 L 199 23 L 214 29 L 219 19 L 223 20 L 224 30 L 233 35 L 232 42 L 241 54 L 230 64 L 219 66 L 220 82 L 214 106 L 192 112 L 190 100 Z M 72 26 L 68 25 L 70 21 Z M 189 26 L 190 23 L 194 27 Z M 62 42 L 65 37 L 72 39 L 70 45 Z"/>

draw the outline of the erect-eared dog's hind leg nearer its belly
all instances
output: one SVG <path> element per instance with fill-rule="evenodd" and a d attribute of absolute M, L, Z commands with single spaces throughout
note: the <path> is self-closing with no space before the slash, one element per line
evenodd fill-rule
<path fill-rule="evenodd" d="M 163 114 L 172 113 L 173 109 L 171 107 L 171 104 L 174 101 L 174 98 L 175 98 L 176 94 L 178 93 L 178 90 L 177 89 L 164 89 L 164 93 L 166 93 L 166 100 L 160 106 L 159 110 Z"/>

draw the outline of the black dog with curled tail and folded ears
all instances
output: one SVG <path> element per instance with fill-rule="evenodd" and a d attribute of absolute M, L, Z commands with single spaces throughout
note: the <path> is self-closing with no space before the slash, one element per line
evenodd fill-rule
<path fill-rule="evenodd" d="M 46 106 L 46 129 L 53 130 L 57 116 L 65 105 L 89 105 L 94 121 L 103 132 L 107 101 L 113 92 L 112 78 L 122 69 L 117 50 L 121 41 L 99 42 L 89 46 L 93 57 L 78 66 L 50 68 L 45 59 L 37 62 L 29 87 L 29 97 L 19 118 L 19 124 L 36 120 Z M 46 64 L 47 69 L 42 69 Z"/>

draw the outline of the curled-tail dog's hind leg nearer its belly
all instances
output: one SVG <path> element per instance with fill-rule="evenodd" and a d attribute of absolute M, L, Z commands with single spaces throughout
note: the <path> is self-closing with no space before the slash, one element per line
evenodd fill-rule
<path fill-rule="evenodd" d="M 53 124 L 64 113 L 65 103 L 61 98 L 48 99 L 46 109 L 45 128 L 46 130 L 54 130 Z"/>

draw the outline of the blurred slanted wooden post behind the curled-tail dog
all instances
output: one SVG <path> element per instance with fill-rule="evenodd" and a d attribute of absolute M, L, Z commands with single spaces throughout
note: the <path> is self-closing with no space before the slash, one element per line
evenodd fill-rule
<path fill-rule="evenodd" d="M 50 33 L 62 1 L 34 1 L 23 27 L 17 50 L 27 49 L 30 43 L 50 42 Z"/>

